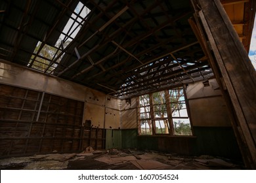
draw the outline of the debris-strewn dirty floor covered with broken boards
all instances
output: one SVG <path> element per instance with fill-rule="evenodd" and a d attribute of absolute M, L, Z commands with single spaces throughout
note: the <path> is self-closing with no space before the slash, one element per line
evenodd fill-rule
<path fill-rule="evenodd" d="M 70 170 L 204 170 L 244 169 L 241 162 L 213 156 L 179 156 L 138 150 L 91 150 L 79 154 L 47 154 L 0 159 L 0 169 Z"/>

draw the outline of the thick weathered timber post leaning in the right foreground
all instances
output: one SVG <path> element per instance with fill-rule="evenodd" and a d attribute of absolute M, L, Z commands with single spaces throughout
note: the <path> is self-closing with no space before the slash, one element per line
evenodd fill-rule
<path fill-rule="evenodd" d="M 210 3 L 199 0 L 199 2 L 203 9 L 200 18 L 203 19 L 205 16 L 209 25 L 210 33 L 208 32 L 207 35 L 236 112 L 238 125 L 241 127 L 241 131 L 239 129 L 238 131 L 244 136 L 242 139 L 245 139 L 253 160 L 248 166 L 256 167 L 255 70 L 219 1 Z"/>

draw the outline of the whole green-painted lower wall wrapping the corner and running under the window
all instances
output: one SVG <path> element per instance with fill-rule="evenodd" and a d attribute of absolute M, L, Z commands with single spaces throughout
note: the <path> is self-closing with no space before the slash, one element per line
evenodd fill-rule
<path fill-rule="evenodd" d="M 195 137 L 139 136 L 137 129 L 106 129 L 106 149 L 137 148 L 241 159 L 232 127 L 194 127 Z"/>

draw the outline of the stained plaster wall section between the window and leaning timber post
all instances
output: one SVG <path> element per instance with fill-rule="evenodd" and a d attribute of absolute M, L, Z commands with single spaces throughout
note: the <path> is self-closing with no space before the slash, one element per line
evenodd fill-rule
<path fill-rule="evenodd" d="M 231 126 L 226 104 L 215 79 L 209 80 L 209 86 L 203 86 L 203 82 L 189 84 L 186 93 L 193 126 Z"/>

